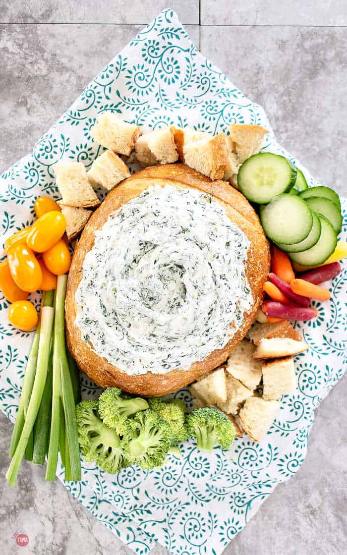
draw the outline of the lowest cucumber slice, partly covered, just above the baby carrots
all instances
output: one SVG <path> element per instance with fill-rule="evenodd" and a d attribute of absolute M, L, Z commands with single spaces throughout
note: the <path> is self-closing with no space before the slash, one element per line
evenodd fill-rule
<path fill-rule="evenodd" d="M 323 264 L 333 254 L 338 236 L 333 226 L 324 216 L 318 215 L 321 232 L 317 243 L 303 253 L 289 253 L 289 258 L 301 266 L 317 266 Z"/>

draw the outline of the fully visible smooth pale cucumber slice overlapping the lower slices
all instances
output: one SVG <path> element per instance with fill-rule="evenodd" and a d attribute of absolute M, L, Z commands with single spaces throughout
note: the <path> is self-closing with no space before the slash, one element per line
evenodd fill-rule
<path fill-rule="evenodd" d="M 260 208 L 263 229 L 274 243 L 293 245 L 306 239 L 313 226 L 313 215 L 303 199 L 278 195 Z"/>

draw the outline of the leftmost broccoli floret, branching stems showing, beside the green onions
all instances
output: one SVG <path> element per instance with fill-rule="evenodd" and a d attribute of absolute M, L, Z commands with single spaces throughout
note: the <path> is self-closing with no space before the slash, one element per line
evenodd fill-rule
<path fill-rule="evenodd" d="M 95 462 L 109 474 L 115 474 L 127 466 L 118 433 L 105 426 L 99 418 L 98 401 L 79 403 L 76 418 L 78 441 L 85 461 Z"/>

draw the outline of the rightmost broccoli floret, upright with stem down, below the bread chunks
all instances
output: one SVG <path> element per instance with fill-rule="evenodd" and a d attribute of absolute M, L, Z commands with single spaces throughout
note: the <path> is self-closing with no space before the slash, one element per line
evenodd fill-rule
<path fill-rule="evenodd" d="M 197 408 L 190 412 L 186 418 L 186 426 L 188 434 L 197 438 L 200 451 L 211 452 L 217 445 L 222 449 L 230 449 L 235 439 L 232 422 L 217 408 Z"/>

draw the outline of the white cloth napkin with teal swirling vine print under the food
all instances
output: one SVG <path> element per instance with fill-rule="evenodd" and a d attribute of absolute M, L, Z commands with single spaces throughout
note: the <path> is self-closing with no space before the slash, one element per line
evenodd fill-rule
<path fill-rule="evenodd" d="M 57 198 L 53 165 L 60 159 L 79 160 L 87 167 L 100 152 L 90 129 L 99 113 L 110 111 L 145 128 L 168 124 L 218 133 L 230 123 L 252 123 L 270 129 L 262 108 L 250 102 L 190 41 L 177 15 L 162 12 L 89 83 L 71 108 L 44 135 L 27 157 L 0 177 L 2 243 L 33 221 L 34 199 Z M 283 153 L 266 136 L 264 150 Z M 328 184 L 329 185 L 329 184 Z M 346 201 L 344 236 L 346 235 Z M 59 478 L 96 518 L 136 553 L 148 553 L 155 542 L 173 555 L 219 555 L 247 524 L 276 484 L 288 480 L 303 463 L 314 410 L 339 380 L 346 365 L 346 264 L 331 284 L 330 303 L 315 303 L 319 316 L 296 327 L 310 350 L 296 357 L 298 390 L 285 396 L 268 435 L 260 444 L 248 436 L 232 449 L 215 448 L 207 456 L 194 441 L 183 446 L 183 457 L 169 456 L 164 468 L 138 467 L 107 475 L 83 463 L 82 481 Z M 34 302 L 39 299 L 33 296 Z M 0 299 L 0 403 L 14 421 L 31 334 L 7 321 L 6 300 Z M 85 397 L 97 392 L 82 376 Z M 187 390 L 177 397 L 190 402 Z"/>

